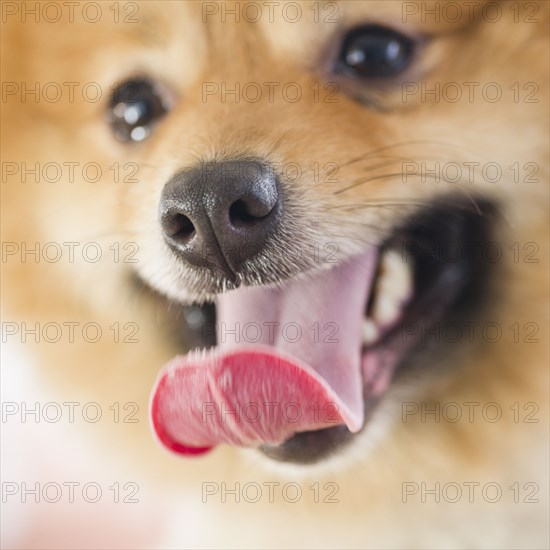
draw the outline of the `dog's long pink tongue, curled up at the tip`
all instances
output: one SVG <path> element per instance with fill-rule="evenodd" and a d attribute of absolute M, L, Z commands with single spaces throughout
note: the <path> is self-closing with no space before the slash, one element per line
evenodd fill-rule
<path fill-rule="evenodd" d="M 169 449 L 277 445 L 297 432 L 364 420 L 361 325 L 372 251 L 280 289 L 218 298 L 218 346 L 170 361 L 151 414 Z"/>

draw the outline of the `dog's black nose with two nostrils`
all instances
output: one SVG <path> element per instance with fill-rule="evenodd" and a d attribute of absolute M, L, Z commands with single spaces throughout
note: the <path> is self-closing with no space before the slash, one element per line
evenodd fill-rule
<path fill-rule="evenodd" d="M 230 280 L 280 224 L 278 178 L 257 160 L 207 162 L 164 187 L 160 223 L 168 245 L 191 265 Z"/>

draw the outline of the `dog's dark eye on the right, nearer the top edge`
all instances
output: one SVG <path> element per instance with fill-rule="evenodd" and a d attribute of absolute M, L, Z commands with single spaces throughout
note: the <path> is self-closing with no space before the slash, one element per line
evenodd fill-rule
<path fill-rule="evenodd" d="M 344 38 L 337 69 L 356 78 L 395 76 L 411 62 L 414 45 L 413 39 L 386 27 L 358 27 Z"/>

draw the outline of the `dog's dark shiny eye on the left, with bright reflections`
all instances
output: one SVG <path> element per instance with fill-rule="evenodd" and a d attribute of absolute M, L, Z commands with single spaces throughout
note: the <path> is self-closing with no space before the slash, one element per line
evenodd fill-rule
<path fill-rule="evenodd" d="M 116 85 L 108 120 L 120 141 L 143 141 L 154 122 L 168 111 L 158 86 L 150 80 L 128 80 Z"/>

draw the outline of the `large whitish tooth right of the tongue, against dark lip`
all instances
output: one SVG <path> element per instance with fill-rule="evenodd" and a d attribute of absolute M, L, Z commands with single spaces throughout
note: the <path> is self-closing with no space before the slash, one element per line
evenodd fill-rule
<path fill-rule="evenodd" d="M 413 291 L 412 270 L 399 253 L 389 250 L 380 259 L 376 281 L 372 319 L 379 326 L 388 326 L 399 319 L 404 304 Z"/>

